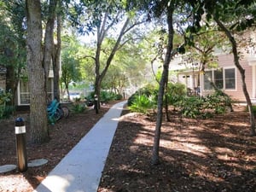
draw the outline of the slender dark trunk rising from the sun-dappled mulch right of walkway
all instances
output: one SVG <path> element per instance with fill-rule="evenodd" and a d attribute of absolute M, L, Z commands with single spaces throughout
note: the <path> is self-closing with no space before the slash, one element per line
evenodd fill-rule
<path fill-rule="evenodd" d="M 151 163 L 153 165 L 157 165 L 160 163 L 159 160 L 159 148 L 160 148 L 160 132 L 161 132 L 161 125 L 162 125 L 162 116 L 163 116 L 163 99 L 165 94 L 166 82 L 168 81 L 168 73 L 169 73 L 169 64 L 172 57 L 172 42 L 173 42 L 173 26 L 172 26 L 172 14 L 173 8 L 172 6 L 167 8 L 167 24 L 168 24 L 168 45 L 166 50 L 166 57 L 163 67 L 162 76 L 160 79 L 160 88 L 158 91 L 158 100 L 157 100 L 157 119 L 155 125 L 155 132 L 154 132 L 154 146 L 152 152 Z"/>

